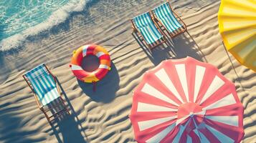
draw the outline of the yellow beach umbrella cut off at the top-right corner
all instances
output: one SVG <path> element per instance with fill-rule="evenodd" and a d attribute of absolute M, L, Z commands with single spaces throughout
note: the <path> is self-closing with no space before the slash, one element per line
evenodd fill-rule
<path fill-rule="evenodd" d="M 256 71 L 256 0 L 222 0 L 218 21 L 226 49 Z"/>

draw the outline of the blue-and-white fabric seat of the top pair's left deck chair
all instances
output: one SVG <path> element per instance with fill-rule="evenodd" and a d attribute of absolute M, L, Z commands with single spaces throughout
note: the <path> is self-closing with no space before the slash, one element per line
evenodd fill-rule
<path fill-rule="evenodd" d="M 134 17 L 133 22 L 148 44 L 153 44 L 163 37 L 153 24 L 149 12 Z"/>

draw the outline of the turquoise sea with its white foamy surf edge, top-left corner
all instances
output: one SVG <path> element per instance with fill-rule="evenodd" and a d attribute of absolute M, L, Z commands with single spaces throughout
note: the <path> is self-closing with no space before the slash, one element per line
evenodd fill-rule
<path fill-rule="evenodd" d="M 82 11 L 87 0 L 0 0 L 0 51 L 16 48 L 27 36 L 39 34 Z"/>

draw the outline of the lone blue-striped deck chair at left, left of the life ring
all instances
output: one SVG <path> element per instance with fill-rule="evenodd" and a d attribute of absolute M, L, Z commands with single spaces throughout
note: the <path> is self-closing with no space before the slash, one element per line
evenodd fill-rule
<path fill-rule="evenodd" d="M 70 114 L 64 99 L 60 96 L 60 87 L 57 85 L 57 79 L 45 64 L 28 71 L 23 77 L 32 89 L 37 106 L 44 113 L 49 124 L 52 125 L 54 119 L 66 112 Z M 52 105 L 52 102 L 54 102 L 54 105 Z M 56 111 L 56 108 L 60 108 L 60 106 L 62 109 Z M 53 110 L 55 110 L 54 113 L 52 113 Z"/>

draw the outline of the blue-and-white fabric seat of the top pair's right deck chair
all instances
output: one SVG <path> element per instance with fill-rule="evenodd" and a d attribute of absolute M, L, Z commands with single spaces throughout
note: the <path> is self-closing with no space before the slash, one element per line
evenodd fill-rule
<path fill-rule="evenodd" d="M 153 13 L 169 32 L 174 32 L 182 26 L 171 11 L 168 2 L 153 9 Z"/>

